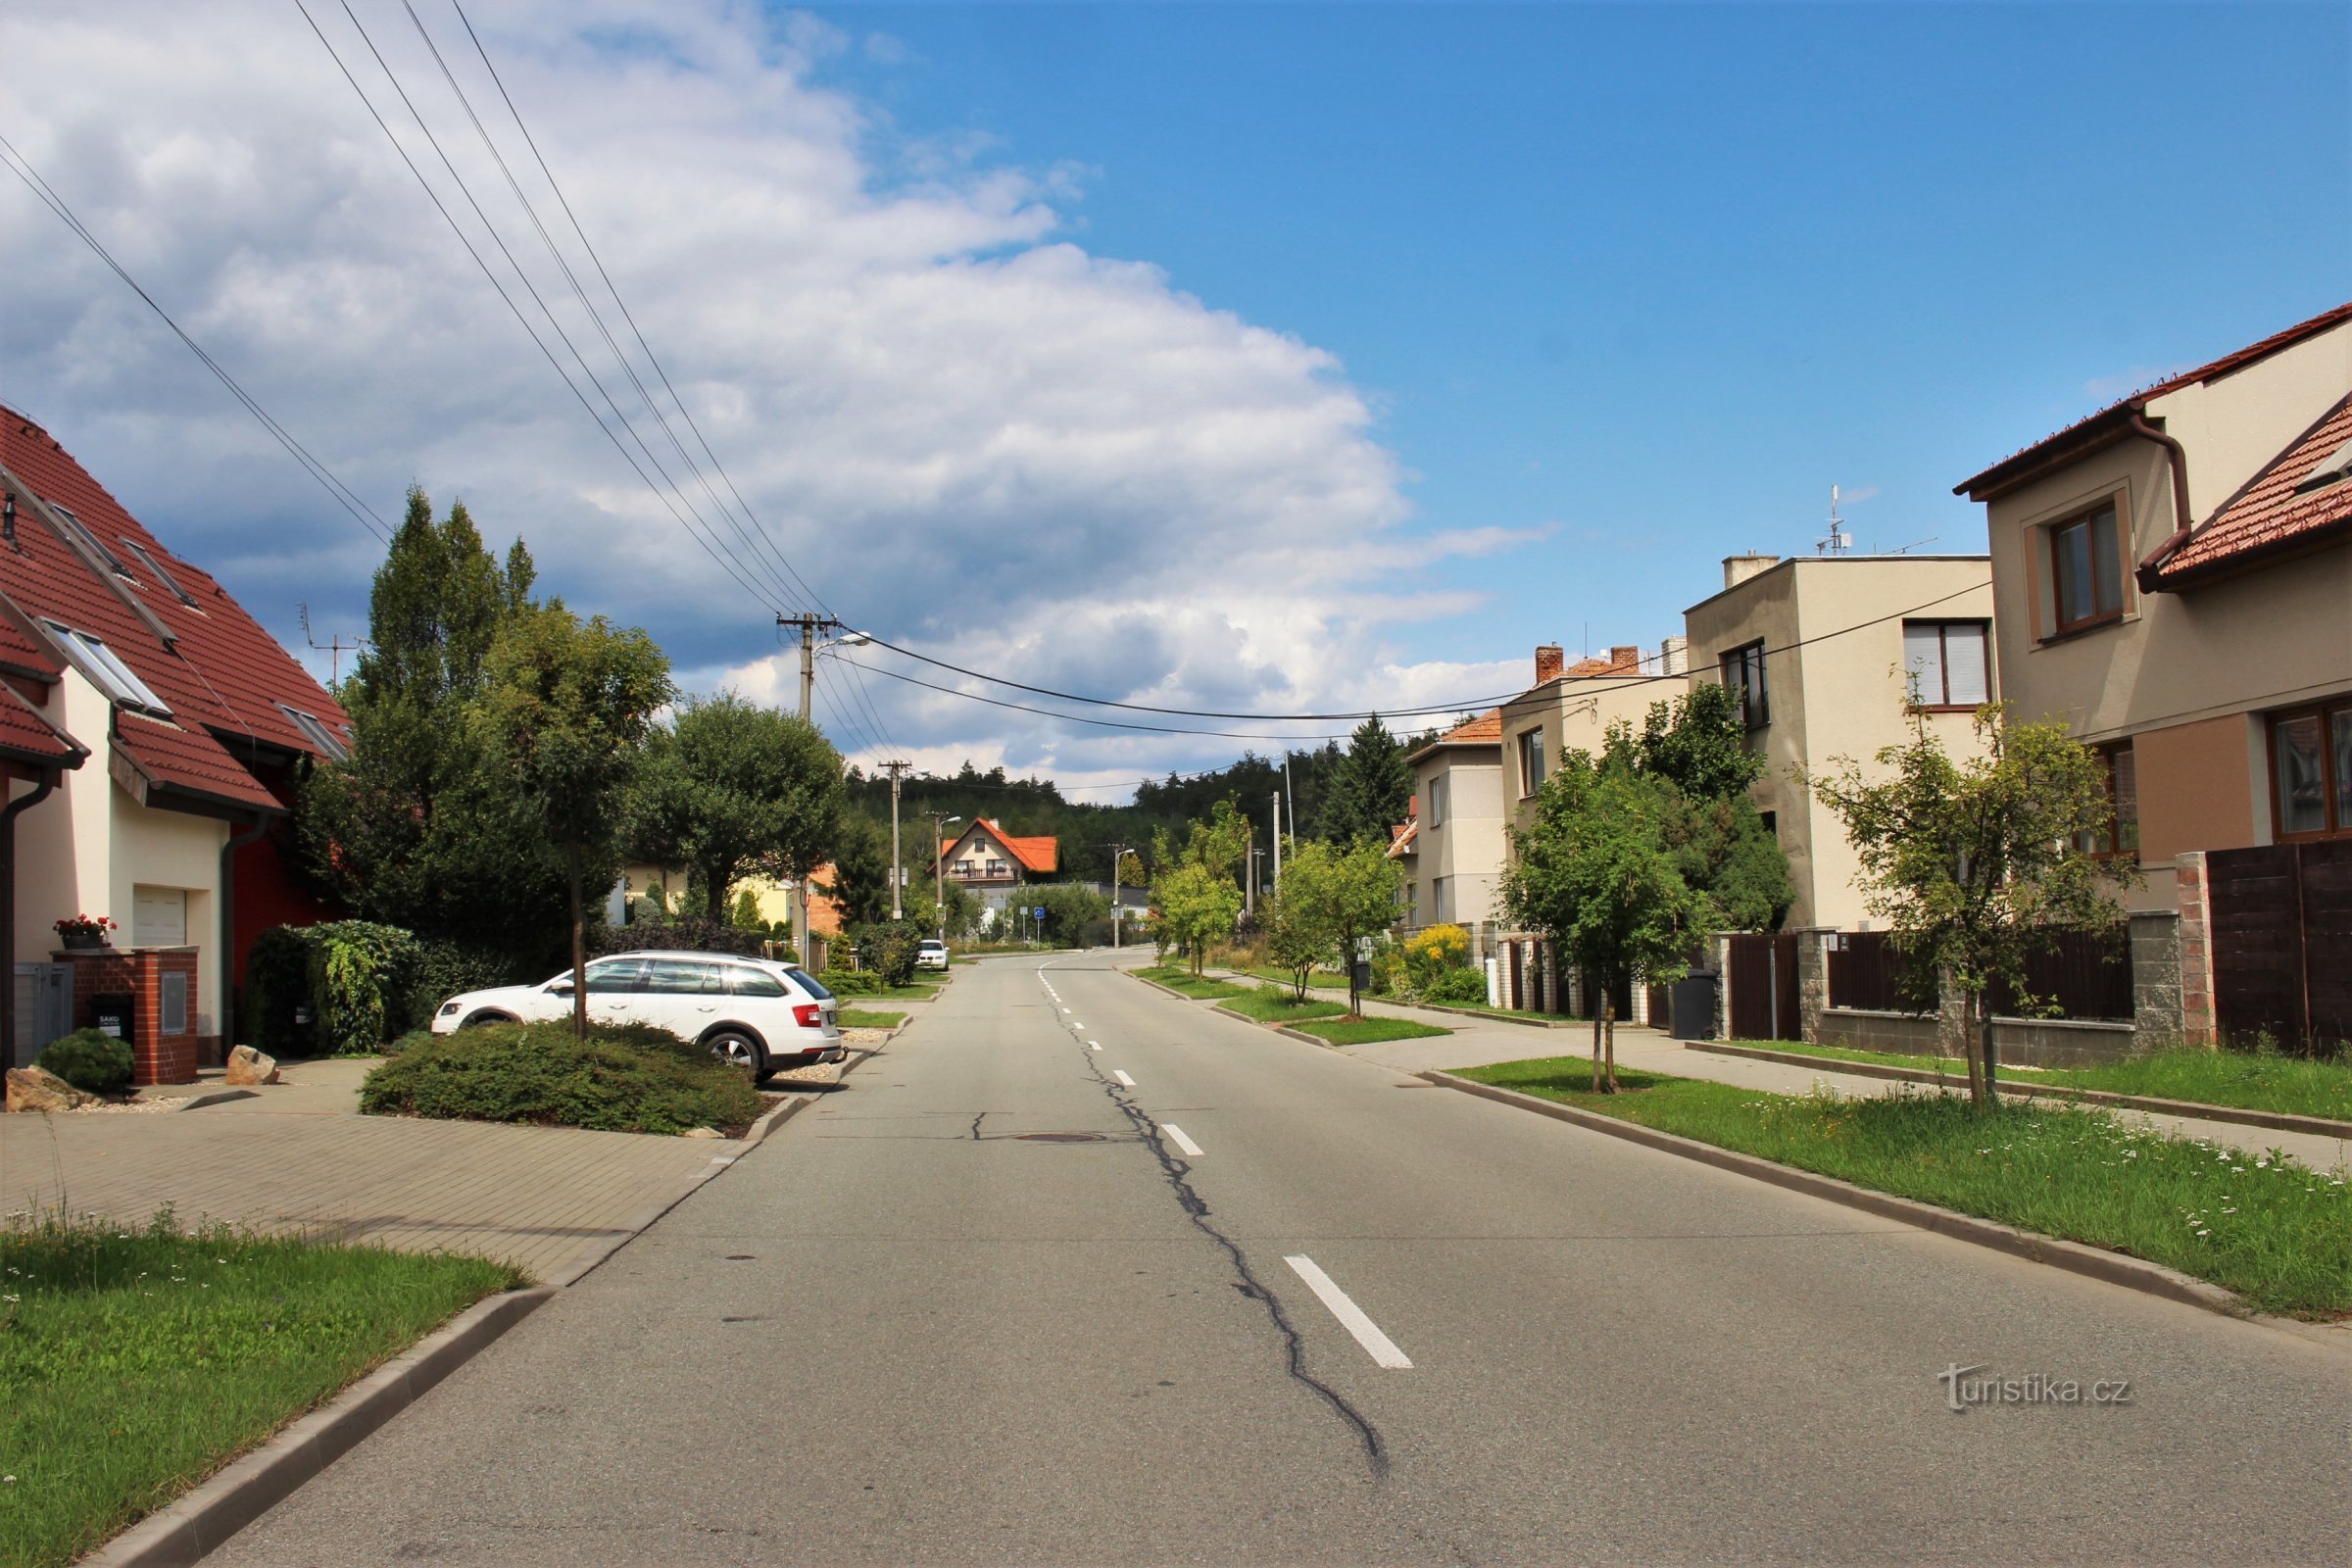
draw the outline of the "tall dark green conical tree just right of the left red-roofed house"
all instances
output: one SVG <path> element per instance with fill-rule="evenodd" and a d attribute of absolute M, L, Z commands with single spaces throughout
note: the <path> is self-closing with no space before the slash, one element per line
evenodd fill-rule
<path fill-rule="evenodd" d="M 353 914 L 543 964 L 562 947 L 567 877 L 466 722 L 499 628 L 532 604 L 517 538 L 499 564 L 466 505 L 440 522 L 409 489 L 376 569 L 367 649 L 339 698 L 350 759 L 303 783 L 303 858 Z"/>

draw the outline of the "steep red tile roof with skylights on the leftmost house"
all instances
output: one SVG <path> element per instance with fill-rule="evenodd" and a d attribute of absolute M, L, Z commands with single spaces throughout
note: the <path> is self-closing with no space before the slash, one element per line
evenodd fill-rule
<path fill-rule="evenodd" d="M 125 578 L 87 562 L 40 508 L 19 496 L 16 543 L 0 545 L 0 595 L 35 621 L 54 618 L 103 639 L 165 701 L 169 719 L 122 724 L 125 750 L 153 783 L 240 806 L 275 804 L 221 741 L 318 755 L 280 703 L 348 729 L 348 715 L 327 689 L 209 571 L 172 555 L 56 440 L 7 407 L 0 407 L 0 465 L 16 477 L 16 487 L 71 510 L 129 574 Z M 148 564 L 122 545 L 125 538 L 153 555 L 195 604 L 181 604 L 155 581 Z M 172 632 L 169 644 L 141 609 Z M 0 632 L 0 661 L 7 658 L 7 642 Z"/>

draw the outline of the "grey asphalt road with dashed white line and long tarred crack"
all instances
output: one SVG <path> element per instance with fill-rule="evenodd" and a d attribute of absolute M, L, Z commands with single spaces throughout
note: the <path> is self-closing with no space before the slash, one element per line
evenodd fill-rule
<path fill-rule="evenodd" d="M 2340 1349 L 1105 957 L 962 971 L 216 1561 L 2352 1559 Z M 2129 1403 L 1955 1413 L 1955 1363 Z"/>

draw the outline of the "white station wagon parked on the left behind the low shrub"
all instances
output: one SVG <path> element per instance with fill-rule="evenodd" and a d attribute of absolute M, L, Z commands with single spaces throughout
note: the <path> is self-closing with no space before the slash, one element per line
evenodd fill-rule
<path fill-rule="evenodd" d="M 840 1001 L 797 964 L 724 952 L 616 952 L 588 964 L 588 1016 L 649 1023 L 710 1046 L 753 1081 L 847 1056 Z M 477 1023 L 553 1023 L 572 1016 L 572 971 L 541 985 L 466 992 L 433 1013 L 435 1034 Z"/>

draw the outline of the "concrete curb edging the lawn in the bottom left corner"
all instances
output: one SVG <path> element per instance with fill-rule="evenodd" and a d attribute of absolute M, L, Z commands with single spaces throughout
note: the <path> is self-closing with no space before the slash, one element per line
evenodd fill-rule
<path fill-rule="evenodd" d="M 303 1481 L 350 1453 L 360 1439 L 416 1403 L 426 1389 L 487 1349 L 499 1335 L 555 1295 L 555 1286 L 508 1291 L 475 1302 L 447 1328 L 428 1333 L 329 1403 L 303 1415 L 202 1481 L 179 1502 L 141 1519 L 82 1559 L 85 1568 L 167 1568 L 216 1552 Z"/>

